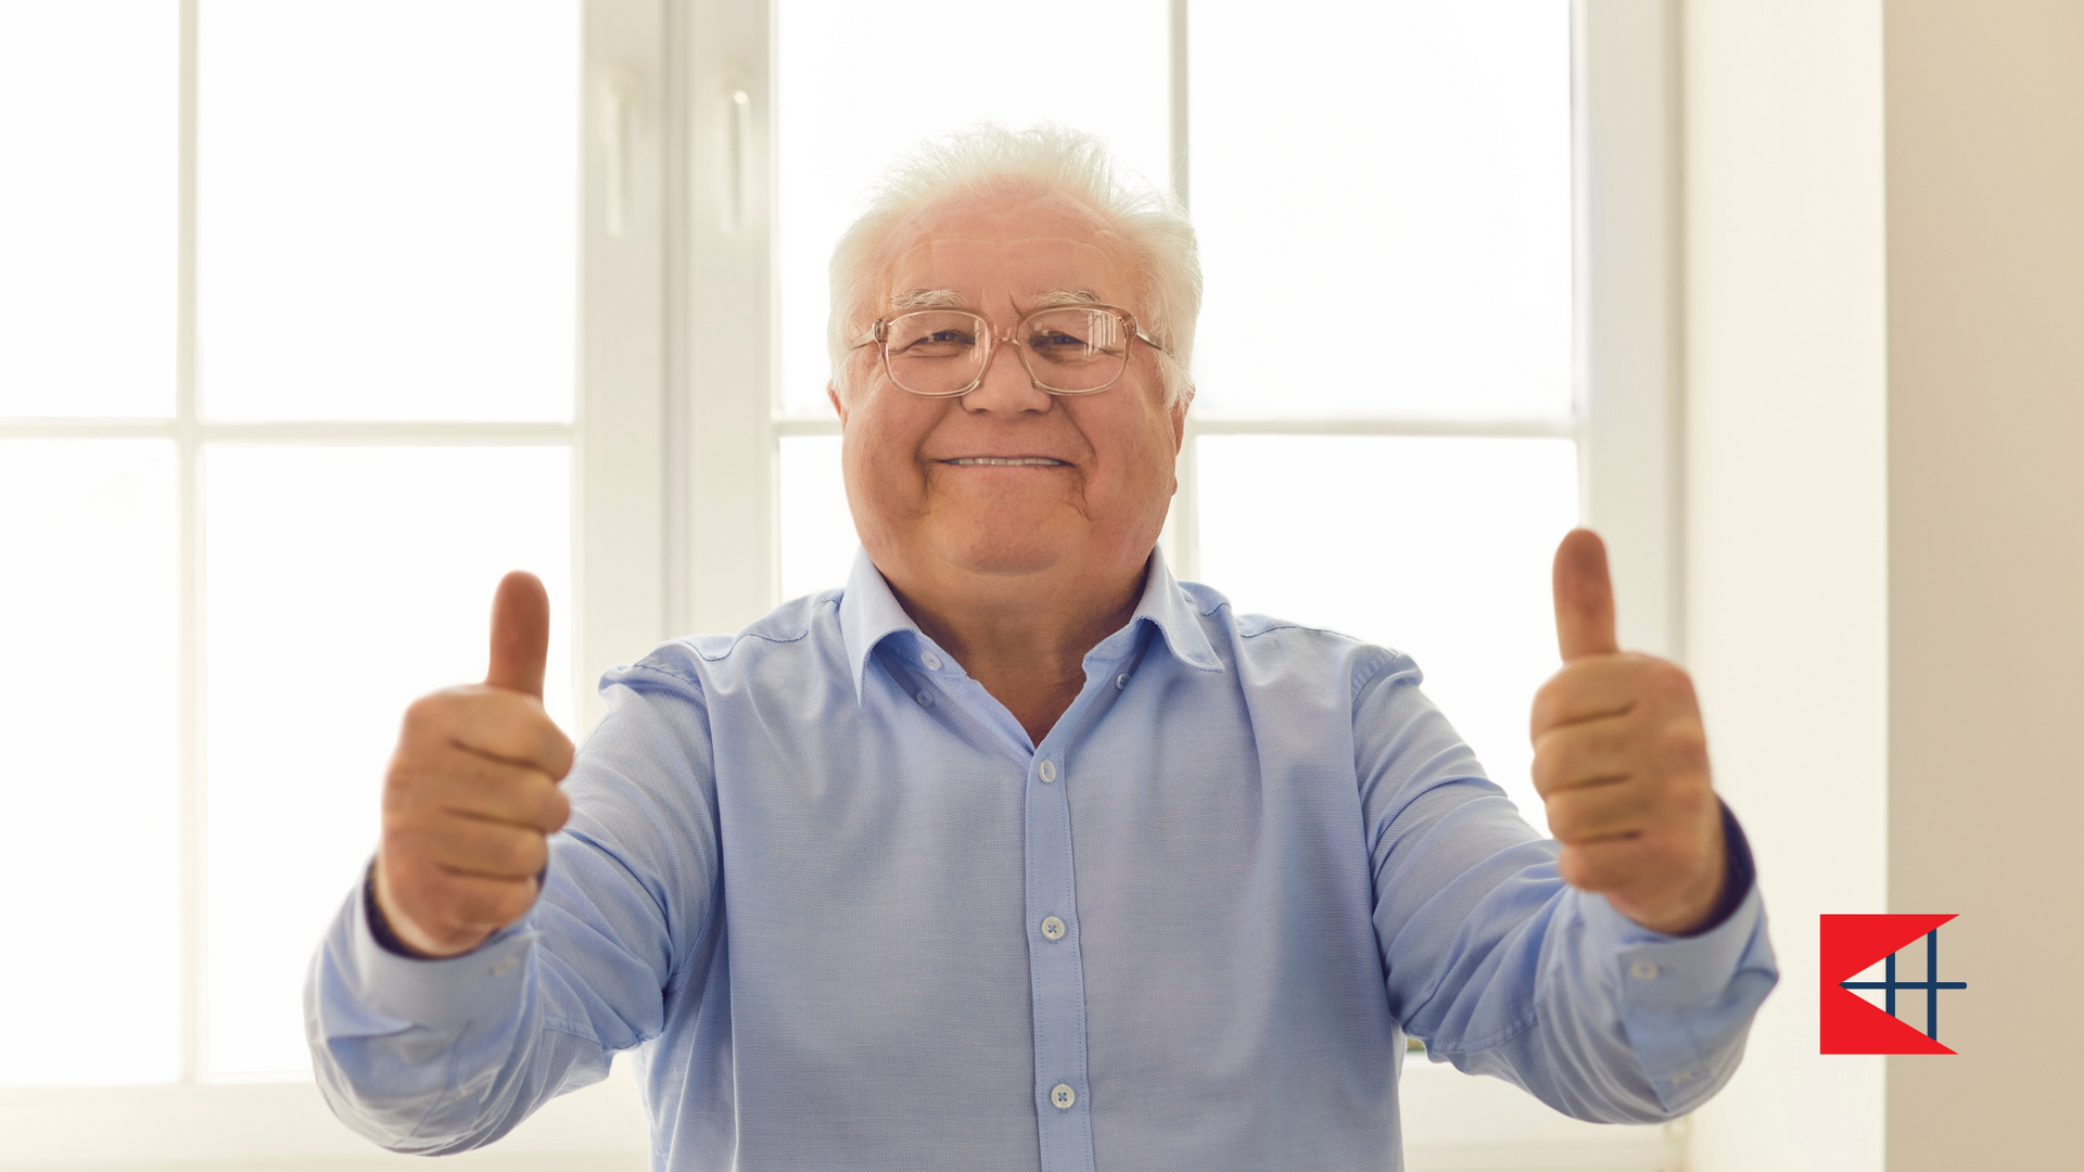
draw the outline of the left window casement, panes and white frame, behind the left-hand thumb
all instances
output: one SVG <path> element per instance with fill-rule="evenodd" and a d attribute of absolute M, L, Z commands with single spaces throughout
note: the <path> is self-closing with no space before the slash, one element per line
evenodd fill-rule
<path fill-rule="evenodd" d="M 567 726 L 663 634 L 656 369 L 600 359 L 659 350 L 659 136 L 625 127 L 613 231 L 611 144 L 581 144 L 590 56 L 656 46 L 642 13 L 0 6 L 0 542 L 29 569 L 0 722 L 33 826 L 0 882 L 40 959 L 0 966 L 0 1166 L 367 1151 L 311 1084 L 300 984 L 402 705 L 481 672 L 511 567 L 550 588 Z"/>

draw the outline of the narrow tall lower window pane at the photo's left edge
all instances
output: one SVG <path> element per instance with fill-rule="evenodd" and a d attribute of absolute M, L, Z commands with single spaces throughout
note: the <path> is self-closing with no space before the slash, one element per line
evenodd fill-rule
<path fill-rule="evenodd" d="M 0 442 L 0 1086 L 181 1072 L 173 534 L 171 442 Z"/>

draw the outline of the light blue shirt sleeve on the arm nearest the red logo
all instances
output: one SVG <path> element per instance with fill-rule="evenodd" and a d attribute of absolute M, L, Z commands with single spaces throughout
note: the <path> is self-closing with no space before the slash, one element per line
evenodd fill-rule
<path fill-rule="evenodd" d="M 1355 753 L 1390 1011 L 1434 1061 L 1594 1122 L 1659 1122 L 1721 1089 L 1780 980 L 1751 847 L 1723 807 L 1732 890 L 1667 936 L 1557 876 L 1398 657 L 1357 692 Z"/>

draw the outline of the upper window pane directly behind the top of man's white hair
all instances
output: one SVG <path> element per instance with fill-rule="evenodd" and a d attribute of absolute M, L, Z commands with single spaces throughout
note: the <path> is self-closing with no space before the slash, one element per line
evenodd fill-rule
<path fill-rule="evenodd" d="M 825 263 L 867 186 L 919 140 L 979 119 L 1052 121 L 1169 181 L 1163 0 L 777 2 L 784 411 L 832 411 Z"/>

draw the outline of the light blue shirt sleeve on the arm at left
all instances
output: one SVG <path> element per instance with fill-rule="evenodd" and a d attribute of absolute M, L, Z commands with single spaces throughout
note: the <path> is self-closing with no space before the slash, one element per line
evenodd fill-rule
<path fill-rule="evenodd" d="M 550 836 L 542 897 L 448 959 L 386 947 L 356 890 L 313 957 L 304 1030 L 350 1128 L 421 1155 L 496 1141 L 536 1107 L 609 1074 L 700 999 L 719 922 L 711 738 L 694 680 L 625 667 L 579 749 L 571 822 Z"/>

